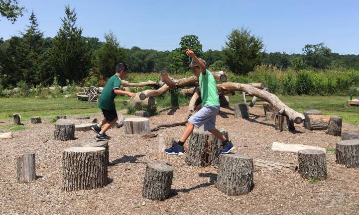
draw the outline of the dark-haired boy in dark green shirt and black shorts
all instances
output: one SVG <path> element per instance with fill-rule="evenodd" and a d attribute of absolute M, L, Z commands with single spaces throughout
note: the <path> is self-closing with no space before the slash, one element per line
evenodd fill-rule
<path fill-rule="evenodd" d="M 118 120 L 116 106 L 115 106 L 115 97 L 117 95 L 128 95 L 130 97 L 135 97 L 136 94 L 121 91 L 121 79 L 126 76 L 127 66 L 126 64 L 120 63 L 116 66 L 116 73 L 113 75 L 106 83 L 99 100 L 99 108 L 101 108 L 104 119 L 97 125 L 91 127 L 93 131 L 97 133 L 97 140 L 109 140 L 110 136 L 106 135 L 106 131 L 113 126 Z M 102 127 L 104 126 L 104 127 Z M 102 129 L 101 129 L 102 127 Z"/>

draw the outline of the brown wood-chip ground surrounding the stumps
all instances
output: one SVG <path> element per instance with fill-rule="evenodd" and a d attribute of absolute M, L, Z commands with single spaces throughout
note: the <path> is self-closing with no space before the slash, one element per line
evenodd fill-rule
<path fill-rule="evenodd" d="M 162 111 L 150 118 L 151 126 L 181 119 L 186 107 Z M 340 137 L 325 131 L 308 131 L 296 125 L 295 132 L 278 132 L 273 121 L 263 121 L 263 109 L 250 108 L 250 119 L 235 119 L 231 109 L 222 109 L 218 127 L 228 130 L 234 152 L 253 158 L 297 163 L 298 155 L 271 151 L 272 141 L 335 147 Z M 100 112 L 94 117 L 101 118 Z M 75 117 L 75 116 L 72 116 Z M 127 116 L 128 117 L 128 116 Z M 10 124 L 4 121 L 3 124 Z M 61 155 L 65 148 L 93 138 L 93 132 L 76 132 L 76 140 L 53 140 L 54 124 L 24 122 L 30 129 L 15 131 L 13 139 L 0 140 L 0 213 L 1 214 L 286 214 L 328 215 L 359 214 L 359 169 L 347 169 L 335 162 L 335 153 L 327 153 L 328 179 L 311 184 L 291 170 L 256 168 L 254 189 L 247 195 L 227 196 L 215 187 L 217 169 L 186 165 L 185 156 L 157 157 L 156 138 L 125 135 L 123 128 L 110 129 L 109 167 L 111 183 L 104 188 L 62 192 Z M 180 138 L 184 126 L 159 132 Z M 359 130 L 343 125 L 343 131 Z M 15 158 L 18 152 L 36 152 L 36 174 L 29 184 L 16 183 Z M 149 201 L 141 196 L 146 162 L 162 160 L 174 168 L 172 196 Z"/>

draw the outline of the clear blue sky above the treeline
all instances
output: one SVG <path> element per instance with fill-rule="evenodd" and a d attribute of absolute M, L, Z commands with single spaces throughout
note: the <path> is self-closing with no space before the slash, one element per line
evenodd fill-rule
<path fill-rule="evenodd" d="M 84 36 L 104 40 L 112 30 L 121 46 L 172 50 L 195 34 L 204 50 L 222 49 L 233 28 L 248 27 L 266 52 L 302 53 L 324 42 L 333 52 L 359 54 L 358 0 L 19 0 L 28 10 L 15 24 L 0 17 L 0 37 L 17 35 L 33 10 L 45 36 L 61 27 L 64 7 L 77 12 Z"/>

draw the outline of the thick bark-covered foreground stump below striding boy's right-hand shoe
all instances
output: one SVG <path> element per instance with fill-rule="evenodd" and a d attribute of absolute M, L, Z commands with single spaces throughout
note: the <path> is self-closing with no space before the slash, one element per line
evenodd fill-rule
<path fill-rule="evenodd" d="M 227 195 L 249 193 L 253 187 L 253 159 L 242 154 L 221 154 L 216 187 Z"/>

